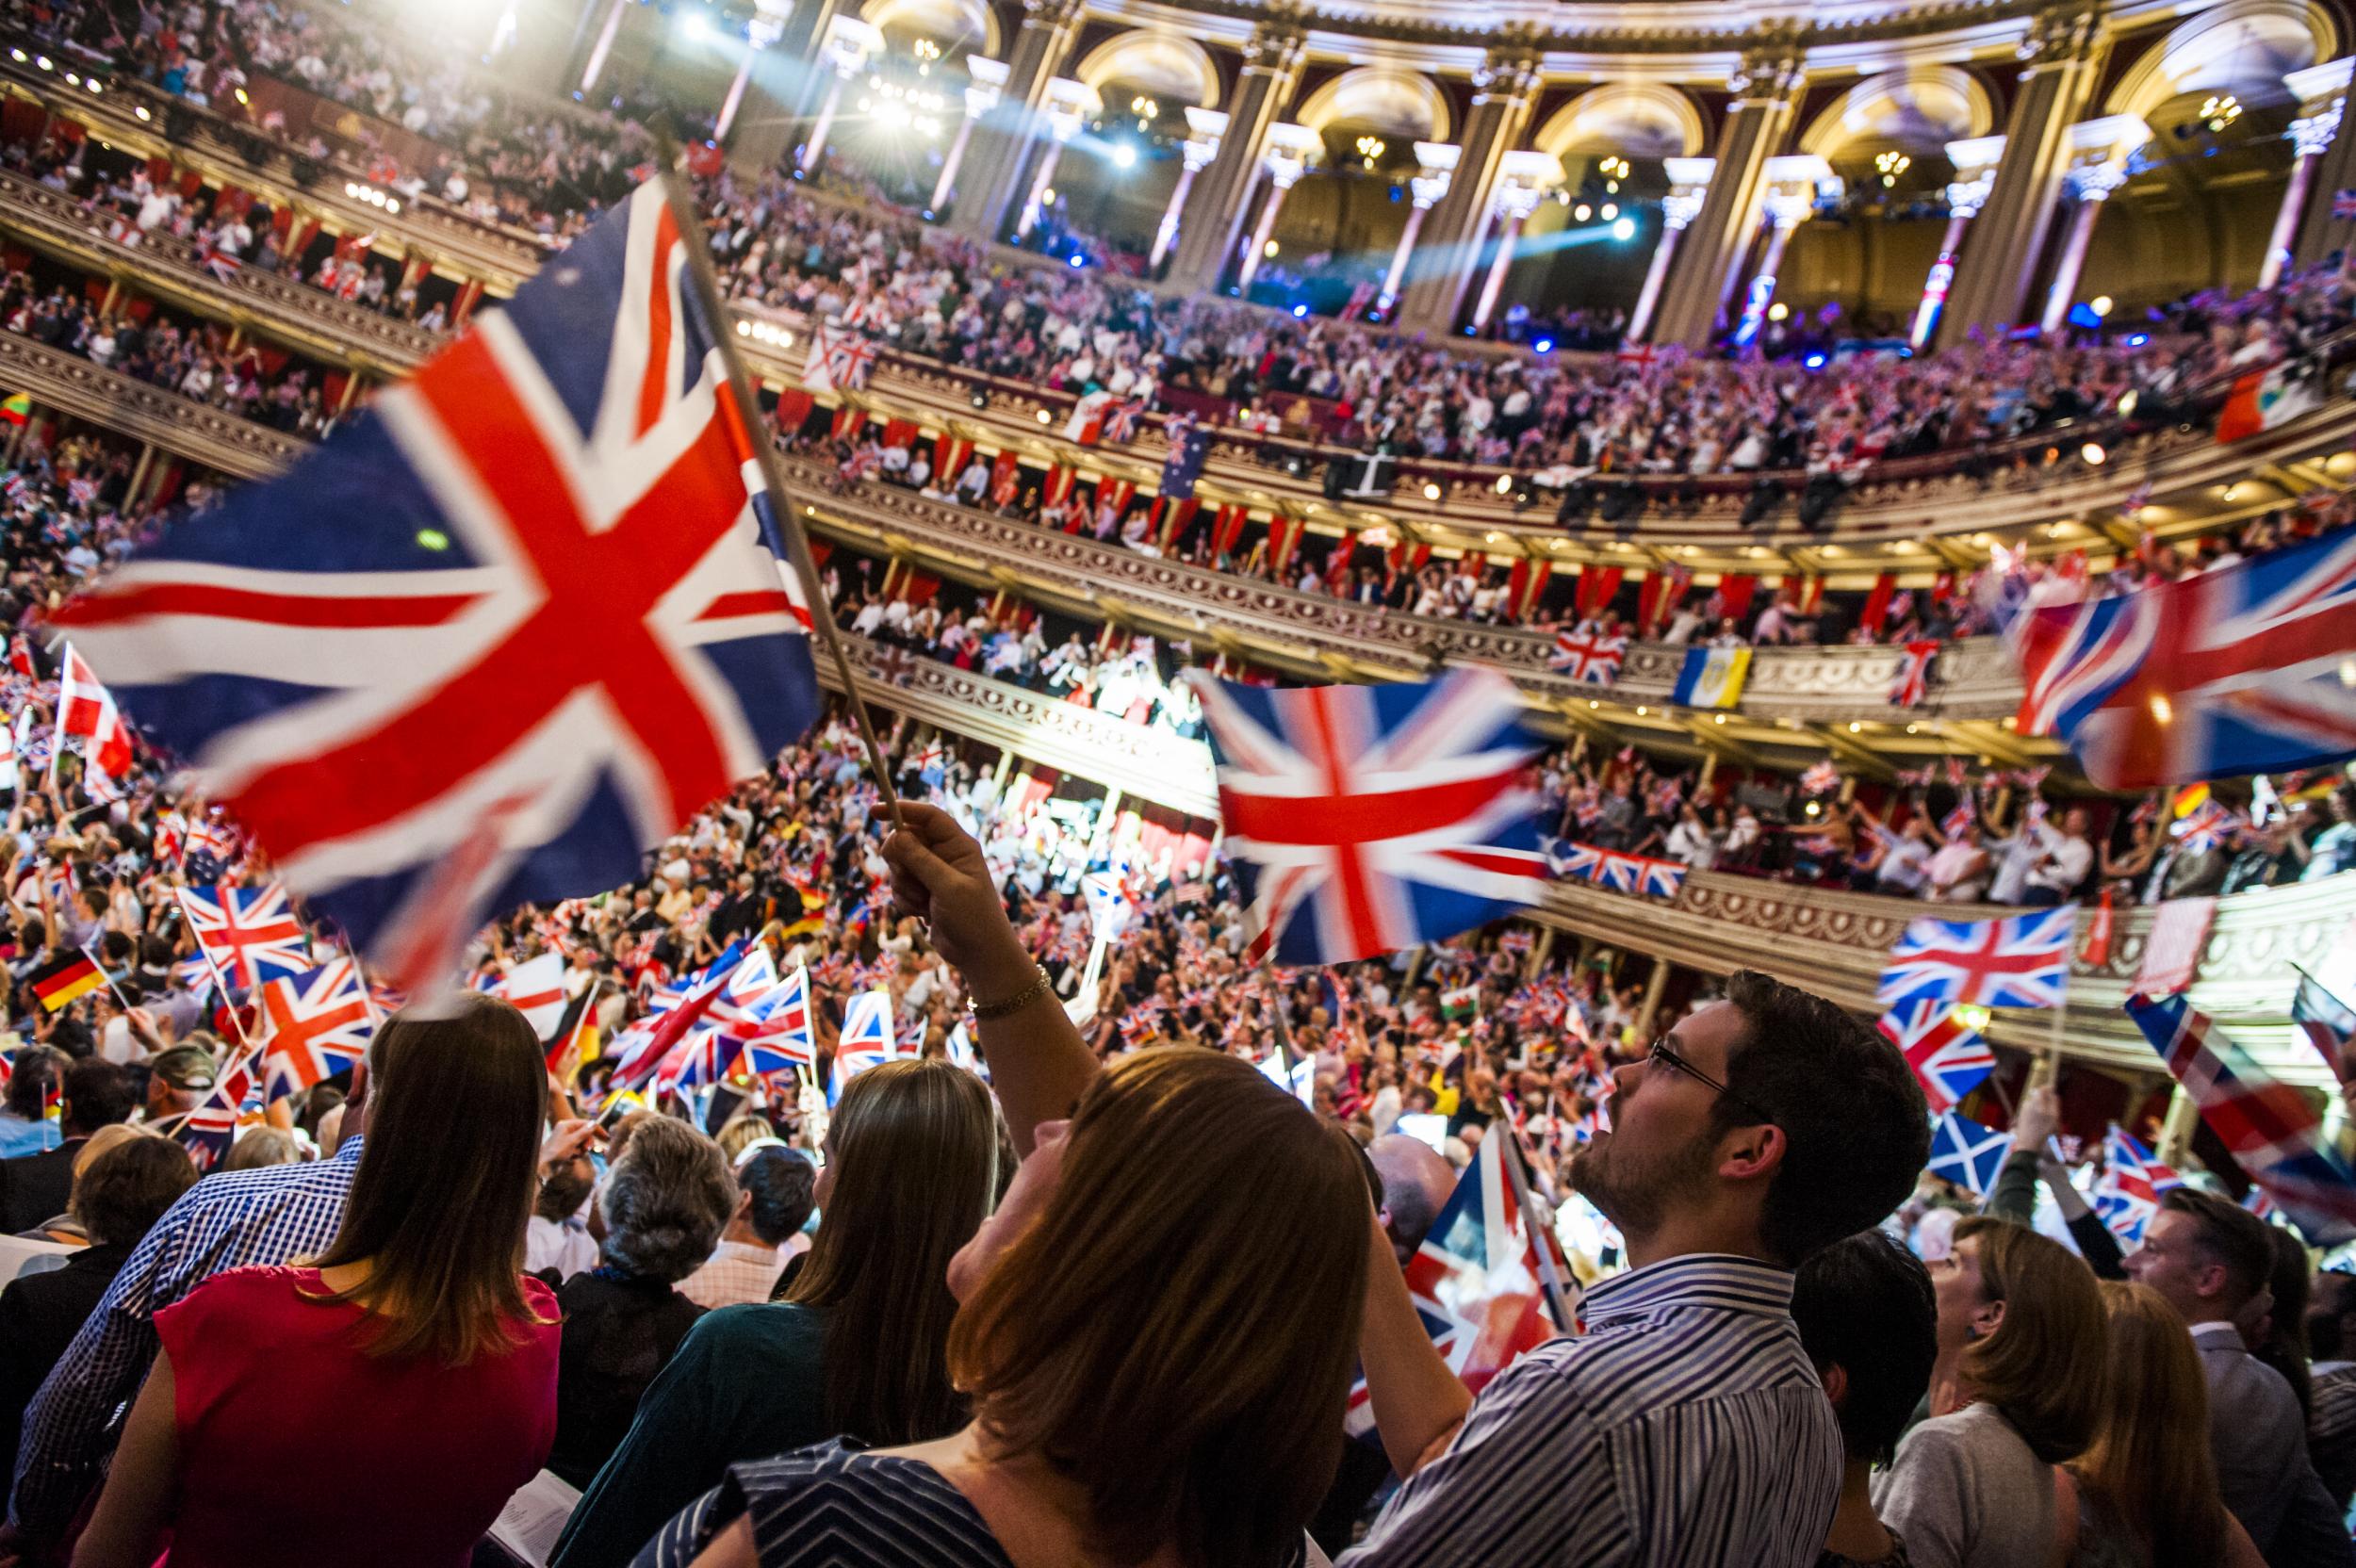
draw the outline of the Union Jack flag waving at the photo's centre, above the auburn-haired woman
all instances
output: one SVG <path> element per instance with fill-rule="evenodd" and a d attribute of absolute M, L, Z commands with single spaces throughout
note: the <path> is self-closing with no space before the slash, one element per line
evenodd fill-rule
<path fill-rule="evenodd" d="M 1192 673 L 1246 958 L 1341 963 L 1546 897 L 1538 737 L 1498 671 L 1272 690 Z"/>

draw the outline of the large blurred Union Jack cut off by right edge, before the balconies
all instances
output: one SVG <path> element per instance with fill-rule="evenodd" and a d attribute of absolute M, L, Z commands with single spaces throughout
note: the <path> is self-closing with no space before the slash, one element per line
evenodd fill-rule
<path fill-rule="evenodd" d="M 2288 772 L 2356 753 L 2356 534 L 2252 556 L 2014 631 L 2021 735 L 2104 789 Z"/>

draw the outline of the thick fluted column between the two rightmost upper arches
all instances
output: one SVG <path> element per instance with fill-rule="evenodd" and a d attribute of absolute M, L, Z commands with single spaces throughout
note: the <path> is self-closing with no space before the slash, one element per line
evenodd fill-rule
<path fill-rule="evenodd" d="M 1974 219 L 1979 242 L 1955 261 L 1939 346 L 1965 341 L 1972 327 L 2010 332 L 2021 318 L 2062 202 L 2071 127 L 2094 97 L 2109 40 L 2090 0 L 2064 0 L 2029 19 L 2014 52 L 2024 64 L 2005 118 L 2005 158 Z"/>

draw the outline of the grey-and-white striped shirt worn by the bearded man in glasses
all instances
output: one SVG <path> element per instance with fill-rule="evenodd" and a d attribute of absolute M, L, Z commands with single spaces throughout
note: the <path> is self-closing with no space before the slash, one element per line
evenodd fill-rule
<path fill-rule="evenodd" d="M 1498 1373 L 1343 1568 L 1807 1568 L 1840 1427 L 1791 1274 L 1692 1255 L 1609 1278 L 1586 1333 Z"/>

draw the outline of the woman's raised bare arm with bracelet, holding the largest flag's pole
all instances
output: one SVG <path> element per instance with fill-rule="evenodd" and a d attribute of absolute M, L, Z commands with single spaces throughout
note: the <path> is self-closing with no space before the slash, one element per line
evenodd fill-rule
<path fill-rule="evenodd" d="M 893 899 L 931 928 L 975 1005 L 975 1043 L 1006 1109 L 1015 1154 L 1032 1151 L 1032 1128 L 1072 1114 L 1098 1062 L 1023 949 L 990 881 L 982 845 L 938 805 L 900 803 L 900 829 L 884 841 Z M 997 1012 L 1006 1003 L 1020 1003 Z M 994 1015 L 994 1017 L 982 1017 Z"/>

